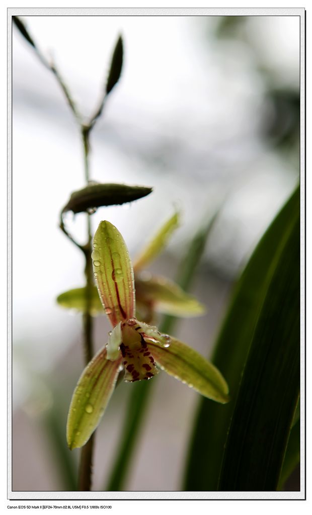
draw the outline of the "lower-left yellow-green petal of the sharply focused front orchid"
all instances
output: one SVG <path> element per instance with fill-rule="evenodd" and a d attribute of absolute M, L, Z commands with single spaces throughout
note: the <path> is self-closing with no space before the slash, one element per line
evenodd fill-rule
<path fill-rule="evenodd" d="M 73 393 L 67 420 L 67 443 L 70 449 L 82 447 L 100 422 L 114 391 L 121 358 L 106 359 L 103 348 L 81 374 Z"/>

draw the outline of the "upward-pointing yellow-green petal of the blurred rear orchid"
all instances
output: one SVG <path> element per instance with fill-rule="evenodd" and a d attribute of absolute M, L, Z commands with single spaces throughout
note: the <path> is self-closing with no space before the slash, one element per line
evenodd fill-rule
<path fill-rule="evenodd" d="M 168 239 L 173 231 L 178 227 L 179 213 L 174 213 L 169 220 L 159 229 L 152 240 L 146 245 L 145 248 L 138 255 L 134 263 L 134 269 L 137 271 L 149 265 L 156 256 L 165 248 Z"/>

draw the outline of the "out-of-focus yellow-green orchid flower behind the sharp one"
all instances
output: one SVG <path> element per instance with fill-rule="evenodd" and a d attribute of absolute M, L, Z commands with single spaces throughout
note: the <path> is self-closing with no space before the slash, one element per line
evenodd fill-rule
<path fill-rule="evenodd" d="M 156 232 L 151 241 L 141 250 L 134 262 L 137 312 L 144 322 L 150 323 L 154 313 L 163 313 L 178 317 L 203 315 L 205 307 L 195 297 L 186 293 L 173 281 L 152 275 L 146 271 L 156 256 L 166 246 L 171 234 L 179 225 L 179 213 L 175 212 Z M 84 311 L 86 306 L 86 288 L 75 288 L 58 296 L 57 302 L 72 310 Z M 103 306 L 97 293 L 92 288 L 89 304 L 93 316 L 103 314 Z"/>

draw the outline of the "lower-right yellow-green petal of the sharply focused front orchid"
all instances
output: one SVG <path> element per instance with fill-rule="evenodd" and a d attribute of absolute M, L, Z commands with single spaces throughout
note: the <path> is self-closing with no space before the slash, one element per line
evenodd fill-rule
<path fill-rule="evenodd" d="M 229 401 L 228 387 L 219 370 L 182 341 L 171 336 L 169 347 L 149 342 L 149 349 L 157 365 L 175 379 L 208 399 L 222 404 Z"/>

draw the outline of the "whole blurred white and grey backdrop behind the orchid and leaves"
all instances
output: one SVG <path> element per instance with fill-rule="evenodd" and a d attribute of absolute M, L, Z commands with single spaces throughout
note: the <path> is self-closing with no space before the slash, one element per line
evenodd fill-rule
<path fill-rule="evenodd" d="M 123 36 L 123 73 L 91 134 L 90 174 L 154 192 L 99 209 L 93 230 L 110 220 L 134 257 L 177 207 L 182 224 L 150 268 L 174 278 L 196 230 L 220 210 L 192 288 L 207 313 L 176 326 L 209 357 L 233 283 L 299 179 L 299 16 L 23 20 L 86 116 Z M 12 490 L 68 490 L 66 453 L 75 463 L 79 453 L 65 449 L 65 421 L 84 366 L 81 317 L 55 299 L 83 286 L 84 263 L 58 223 L 85 184 L 83 152 L 59 85 L 15 27 L 12 55 Z M 84 241 L 84 215 L 67 222 Z M 95 319 L 96 349 L 109 329 Z M 199 395 L 165 373 L 153 382 L 127 489 L 180 490 Z M 98 428 L 93 490 L 104 489 L 132 386 L 117 388 Z"/>

